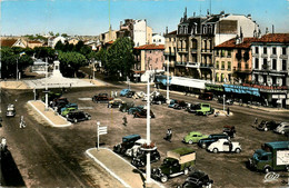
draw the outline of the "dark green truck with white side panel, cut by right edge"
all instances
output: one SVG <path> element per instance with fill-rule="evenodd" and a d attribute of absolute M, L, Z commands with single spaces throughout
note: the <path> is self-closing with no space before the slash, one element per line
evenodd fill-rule
<path fill-rule="evenodd" d="M 249 158 L 249 168 L 256 171 L 289 170 L 289 141 L 266 142 Z"/>

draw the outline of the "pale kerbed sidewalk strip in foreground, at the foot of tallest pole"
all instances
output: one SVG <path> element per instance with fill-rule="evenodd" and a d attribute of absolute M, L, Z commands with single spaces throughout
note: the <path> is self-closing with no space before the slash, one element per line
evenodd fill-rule
<path fill-rule="evenodd" d="M 104 168 L 111 176 L 118 179 L 123 187 L 142 188 L 144 187 L 146 175 L 140 172 L 127 160 L 114 154 L 108 148 L 91 148 L 86 154 L 98 165 Z M 163 186 L 151 179 L 151 188 L 163 188 Z"/>

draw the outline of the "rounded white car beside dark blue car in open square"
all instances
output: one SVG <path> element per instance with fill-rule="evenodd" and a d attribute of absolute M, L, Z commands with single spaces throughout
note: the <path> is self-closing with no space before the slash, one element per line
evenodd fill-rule
<path fill-rule="evenodd" d="M 211 152 L 241 152 L 241 146 L 239 142 L 236 141 L 230 141 L 228 139 L 219 139 L 215 142 L 212 142 L 209 147 L 208 150 Z"/>

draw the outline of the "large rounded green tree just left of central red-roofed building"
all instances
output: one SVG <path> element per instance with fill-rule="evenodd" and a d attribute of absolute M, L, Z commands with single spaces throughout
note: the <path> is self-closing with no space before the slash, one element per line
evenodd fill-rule
<path fill-rule="evenodd" d="M 131 67 L 134 63 L 133 41 L 129 38 L 119 38 L 107 51 L 104 69 L 112 77 L 121 80 L 130 76 Z M 121 73 L 121 75 L 120 75 Z"/>

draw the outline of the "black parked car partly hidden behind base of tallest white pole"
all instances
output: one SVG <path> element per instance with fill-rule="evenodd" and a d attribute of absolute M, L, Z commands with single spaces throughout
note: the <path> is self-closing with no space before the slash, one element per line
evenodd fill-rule
<path fill-rule="evenodd" d="M 157 149 L 152 150 L 150 152 L 150 162 L 156 162 L 156 161 L 159 161 L 159 160 L 160 160 L 159 151 Z M 131 164 L 134 167 L 144 167 L 147 165 L 147 155 L 146 155 L 146 152 L 139 152 L 139 155 L 137 157 L 132 158 Z"/>

